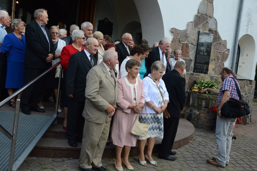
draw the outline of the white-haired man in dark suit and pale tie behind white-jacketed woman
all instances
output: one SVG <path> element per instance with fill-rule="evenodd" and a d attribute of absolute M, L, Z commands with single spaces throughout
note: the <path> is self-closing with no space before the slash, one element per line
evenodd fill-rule
<path fill-rule="evenodd" d="M 170 40 L 167 37 L 164 37 L 160 40 L 158 47 L 152 47 L 152 51 L 149 53 L 148 58 L 145 59 L 145 66 L 148 71 L 151 73 L 151 66 L 155 61 L 163 62 L 166 67 L 166 71 L 163 72 L 163 75 L 170 71 L 170 65 L 167 62 L 167 53 L 166 51 L 170 48 Z"/>

